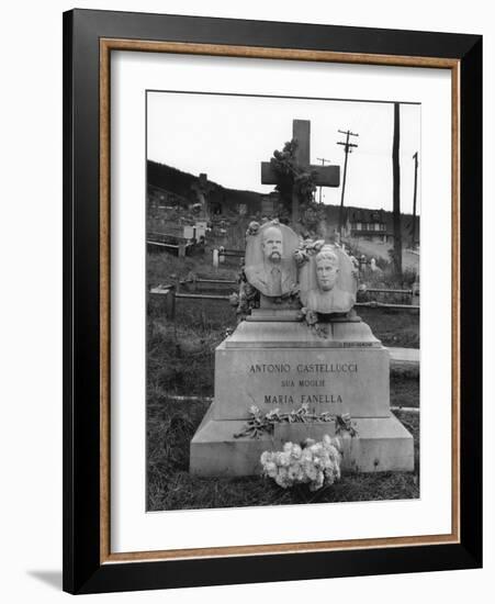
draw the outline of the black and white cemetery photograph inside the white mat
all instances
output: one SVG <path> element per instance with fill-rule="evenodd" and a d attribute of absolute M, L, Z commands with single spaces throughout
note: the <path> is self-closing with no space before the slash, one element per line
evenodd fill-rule
<path fill-rule="evenodd" d="M 420 493 L 421 105 L 146 91 L 146 510 Z"/>

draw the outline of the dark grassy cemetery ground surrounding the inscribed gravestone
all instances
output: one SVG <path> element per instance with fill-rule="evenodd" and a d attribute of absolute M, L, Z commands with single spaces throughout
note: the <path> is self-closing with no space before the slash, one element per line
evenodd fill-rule
<path fill-rule="evenodd" d="M 237 277 L 238 266 L 233 261 L 215 270 L 207 254 L 184 259 L 164 253 L 148 254 L 148 288 L 185 279 L 191 271 L 203 278 L 227 280 Z M 235 290 L 232 286 L 232 291 Z M 209 290 L 202 291 L 209 293 Z M 205 479 L 191 476 L 189 447 L 212 401 L 214 350 L 227 329 L 235 328 L 237 318 L 227 301 L 180 299 L 175 320 L 169 320 L 160 298 L 149 298 L 147 316 L 148 511 L 419 496 L 419 413 L 410 411 L 394 413 L 414 436 L 414 472 L 347 474 L 315 493 L 306 486 L 283 490 L 261 477 Z M 385 346 L 419 347 L 417 313 L 359 309 L 358 314 Z M 394 407 L 419 406 L 417 370 L 392 371 L 391 404 Z"/>

